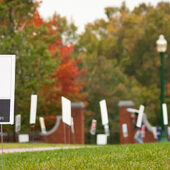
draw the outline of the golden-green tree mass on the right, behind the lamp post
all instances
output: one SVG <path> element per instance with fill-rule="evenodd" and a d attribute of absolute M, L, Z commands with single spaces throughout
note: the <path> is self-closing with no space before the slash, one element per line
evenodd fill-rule
<path fill-rule="evenodd" d="M 149 120 L 159 124 L 160 58 L 156 40 L 159 34 L 170 39 L 168 9 L 170 4 L 162 2 L 156 7 L 143 3 L 130 11 L 124 3 L 120 8 L 107 7 L 107 20 L 98 19 L 86 25 L 76 51 L 87 69 L 85 90 L 88 103 L 92 103 L 87 108 L 87 128 L 92 118 L 100 124 L 98 101 L 103 98 L 108 101 L 112 130 L 119 128 L 118 101 L 126 99 L 133 100 L 137 108 L 144 104 Z M 165 60 L 168 71 L 169 58 Z M 167 75 L 169 72 L 166 73 L 166 82 L 169 82 Z"/>

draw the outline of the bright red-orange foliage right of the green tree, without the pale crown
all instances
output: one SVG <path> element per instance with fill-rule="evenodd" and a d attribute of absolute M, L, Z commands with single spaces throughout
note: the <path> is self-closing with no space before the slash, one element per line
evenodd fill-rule
<path fill-rule="evenodd" d="M 46 96 L 41 106 L 44 115 L 56 115 L 56 112 L 61 110 L 61 96 L 68 97 L 71 101 L 85 101 L 87 96 L 82 93 L 84 83 L 79 79 L 86 71 L 85 69 L 80 70 L 78 67 L 81 58 L 73 57 L 74 45 L 63 44 L 59 22 L 62 22 L 62 18 L 56 14 L 48 21 L 44 21 L 38 11 L 33 17 L 33 24 L 37 29 L 41 26 L 46 27 L 46 36 L 51 37 L 48 45 L 51 58 L 57 58 L 59 61 L 49 77 L 52 79 L 51 86 L 45 85 L 44 91 L 41 93 Z"/>

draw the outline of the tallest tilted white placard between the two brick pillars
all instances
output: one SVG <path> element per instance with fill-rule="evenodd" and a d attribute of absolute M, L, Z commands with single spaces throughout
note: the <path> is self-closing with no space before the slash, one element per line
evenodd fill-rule
<path fill-rule="evenodd" d="M 102 125 L 108 124 L 108 113 L 107 113 L 107 107 L 106 107 L 106 100 L 100 101 L 100 111 L 102 116 Z"/>

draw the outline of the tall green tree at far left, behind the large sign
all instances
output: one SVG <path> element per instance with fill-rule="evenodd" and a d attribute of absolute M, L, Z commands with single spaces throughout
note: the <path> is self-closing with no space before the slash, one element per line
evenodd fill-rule
<path fill-rule="evenodd" d="M 49 76 L 57 66 L 48 51 L 47 29 L 29 24 L 34 17 L 36 4 L 33 1 L 2 1 L 0 9 L 1 54 L 16 55 L 15 113 L 22 114 L 22 128 L 28 128 L 30 96 L 37 94 L 41 105 L 41 92 L 49 85 Z"/>

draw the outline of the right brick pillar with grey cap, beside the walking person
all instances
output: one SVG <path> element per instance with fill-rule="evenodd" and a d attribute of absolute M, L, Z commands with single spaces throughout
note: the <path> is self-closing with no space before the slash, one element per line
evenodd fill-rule
<path fill-rule="evenodd" d="M 132 101 L 120 101 L 119 104 L 119 120 L 120 120 L 120 143 L 128 144 L 134 143 L 135 127 L 132 122 L 131 113 L 127 112 L 127 108 L 133 108 L 134 103 Z M 123 124 L 127 125 L 127 137 L 123 135 Z"/>

